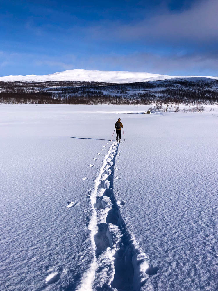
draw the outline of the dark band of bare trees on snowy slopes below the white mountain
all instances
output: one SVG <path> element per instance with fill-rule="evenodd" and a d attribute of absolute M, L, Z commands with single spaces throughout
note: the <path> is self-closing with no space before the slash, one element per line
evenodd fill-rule
<path fill-rule="evenodd" d="M 218 81 L 0 82 L 0 104 L 218 104 Z"/>

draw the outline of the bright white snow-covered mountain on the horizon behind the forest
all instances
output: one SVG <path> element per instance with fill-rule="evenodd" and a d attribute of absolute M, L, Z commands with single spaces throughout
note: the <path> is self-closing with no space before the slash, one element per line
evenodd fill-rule
<path fill-rule="evenodd" d="M 203 77 L 210 79 L 218 79 L 212 76 L 168 76 L 151 74 L 146 72 L 126 72 L 126 71 L 97 71 L 97 70 L 66 70 L 63 72 L 56 72 L 50 75 L 27 75 L 27 76 L 5 76 L 0 77 L 0 81 L 93 81 L 93 82 L 110 82 L 110 83 L 132 83 L 132 82 L 146 82 L 157 81 L 173 78 L 193 78 Z"/>

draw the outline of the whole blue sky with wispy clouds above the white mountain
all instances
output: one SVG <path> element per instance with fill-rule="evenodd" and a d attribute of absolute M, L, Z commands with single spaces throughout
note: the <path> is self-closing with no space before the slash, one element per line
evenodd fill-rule
<path fill-rule="evenodd" d="M 217 0 L 0 0 L 0 76 L 218 76 Z"/>

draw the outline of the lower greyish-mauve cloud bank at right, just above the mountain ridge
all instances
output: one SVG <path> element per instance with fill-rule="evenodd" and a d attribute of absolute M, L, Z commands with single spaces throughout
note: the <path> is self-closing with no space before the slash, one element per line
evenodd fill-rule
<path fill-rule="evenodd" d="M 218 71 L 218 52 L 214 54 L 113 54 L 92 56 L 83 68 L 125 70 L 169 75 L 214 75 Z M 188 72 L 188 73 L 187 73 Z M 217 75 L 217 74 L 216 74 Z"/>

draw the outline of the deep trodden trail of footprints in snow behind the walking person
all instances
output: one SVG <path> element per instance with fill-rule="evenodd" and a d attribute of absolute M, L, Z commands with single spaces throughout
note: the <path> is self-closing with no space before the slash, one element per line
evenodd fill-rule
<path fill-rule="evenodd" d="M 127 230 L 120 209 L 125 205 L 114 191 L 115 167 L 119 163 L 119 147 L 113 142 L 105 155 L 99 175 L 94 181 L 90 200 L 92 217 L 89 229 L 94 249 L 94 260 L 79 288 L 83 290 L 152 290 L 149 275 L 157 268 L 149 265 L 145 253 Z M 105 146 L 103 146 L 105 147 Z M 116 161 L 117 157 L 117 161 Z"/>

